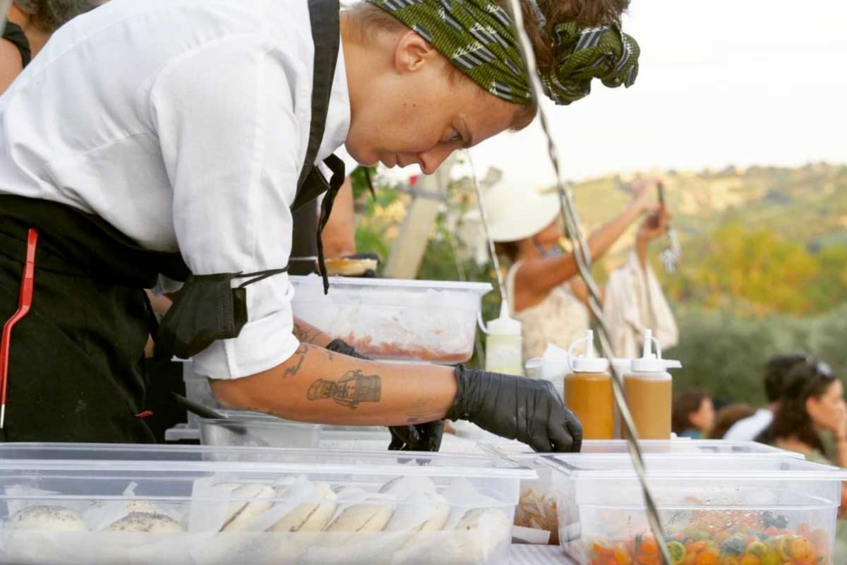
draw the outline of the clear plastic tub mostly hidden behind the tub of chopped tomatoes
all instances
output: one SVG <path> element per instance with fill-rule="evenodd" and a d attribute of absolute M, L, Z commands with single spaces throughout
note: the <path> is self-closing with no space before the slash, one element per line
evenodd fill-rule
<path fill-rule="evenodd" d="M 803 458 L 799 453 L 783 451 L 754 441 L 645 440 L 640 442 L 640 446 L 645 454 L 656 457 L 711 457 L 719 454 L 721 457 L 735 458 L 737 461 L 744 461 L 746 457 Z M 563 534 L 566 541 L 578 535 L 573 533 L 578 527 L 576 512 L 568 518 L 567 523 L 560 526 L 557 511 L 561 504 L 573 509 L 573 485 L 567 485 L 567 488 L 562 490 L 561 483 L 553 484 L 553 471 L 551 466 L 545 463 L 544 454 L 534 453 L 528 446 L 505 440 L 481 443 L 480 448 L 534 468 L 538 472 L 536 479 L 521 482 L 521 496 L 515 512 L 515 526 L 525 529 L 518 530 L 526 536 L 525 540 L 555 544 L 559 541 L 559 535 Z M 627 443 L 624 440 L 585 440 L 581 453 L 562 457 L 573 457 L 574 461 L 586 462 L 585 464 L 592 460 L 618 462 L 622 467 L 630 464 Z"/>

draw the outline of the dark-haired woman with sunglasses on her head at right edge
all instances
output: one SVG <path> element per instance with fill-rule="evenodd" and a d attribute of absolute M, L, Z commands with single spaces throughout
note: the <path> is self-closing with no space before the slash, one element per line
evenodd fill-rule
<path fill-rule="evenodd" d="M 783 396 L 773 420 L 756 441 L 802 453 L 817 463 L 847 468 L 847 403 L 844 385 L 827 363 L 807 357 L 794 365 L 785 379 Z M 826 453 L 822 435 L 831 432 L 835 451 Z M 841 506 L 835 534 L 835 561 L 847 563 L 847 483 L 841 488 Z"/>

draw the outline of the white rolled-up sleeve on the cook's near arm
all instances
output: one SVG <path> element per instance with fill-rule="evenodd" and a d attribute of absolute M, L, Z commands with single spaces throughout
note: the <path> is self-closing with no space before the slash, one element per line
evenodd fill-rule
<path fill-rule="evenodd" d="M 289 206 L 304 151 L 294 113 L 302 95 L 296 70 L 261 36 L 231 36 L 174 61 L 152 87 L 153 127 L 174 188 L 174 229 L 192 273 L 252 273 L 288 263 Z M 295 352 L 287 274 L 246 289 L 241 334 L 197 354 L 197 372 L 240 378 Z"/>

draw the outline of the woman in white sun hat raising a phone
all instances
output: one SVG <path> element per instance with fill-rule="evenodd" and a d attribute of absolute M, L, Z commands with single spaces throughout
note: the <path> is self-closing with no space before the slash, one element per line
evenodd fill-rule
<path fill-rule="evenodd" d="M 610 283 L 613 279 L 623 282 L 623 286 L 616 285 L 623 294 L 645 294 L 639 289 L 631 288 L 637 280 L 645 281 L 645 288 L 650 287 L 650 282 L 654 289 L 658 288 L 655 276 L 650 273 L 646 261 L 648 244 L 665 233 L 669 217 L 667 211 L 656 202 L 658 183 L 658 180 L 634 182 L 633 197 L 628 206 L 588 238 L 591 256 L 597 260 L 623 235 L 630 224 L 645 216 L 639 226 L 630 261 L 623 269 L 619 269 L 621 273 L 616 272 L 610 278 Z M 573 253 L 566 250 L 567 241 L 562 232 L 556 191 L 526 191 L 501 183 L 487 192 L 485 208 L 488 211 L 491 237 L 495 241 L 497 252 L 510 263 L 506 277 L 507 297 L 512 316 L 523 326 L 524 360 L 541 357 L 550 344 L 567 348 L 573 341 L 584 336 L 585 330 L 589 328 L 589 311 L 585 306 L 588 294 L 583 281 L 579 279 Z M 601 292 L 604 302 L 612 302 L 607 296 L 606 288 L 601 288 Z M 621 296 L 617 296 L 614 302 L 632 302 L 634 309 L 639 310 L 637 298 L 629 301 L 628 297 L 621 300 Z M 673 326 L 673 331 L 664 333 L 672 334 L 667 336 L 667 341 L 675 342 L 676 326 L 673 324 L 673 316 L 669 314 L 663 297 L 661 302 L 664 307 L 659 308 L 658 315 L 648 312 L 644 317 L 646 320 L 632 320 L 634 324 L 629 325 L 640 325 L 641 322 L 648 327 Z M 604 311 L 607 306 L 609 305 L 604 304 Z M 621 316 L 614 314 L 616 313 L 612 313 L 612 319 L 628 319 L 624 313 L 617 313 Z M 657 318 L 661 318 L 662 323 L 657 324 Z M 628 341 L 632 340 L 623 336 L 636 335 L 634 331 L 620 331 L 622 329 L 617 327 L 617 333 L 612 332 L 612 346 L 621 357 L 627 355 L 629 352 L 626 350 L 633 349 L 635 345 L 628 344 Z M 655 327 L 652 329 L 656 330 Z"/>

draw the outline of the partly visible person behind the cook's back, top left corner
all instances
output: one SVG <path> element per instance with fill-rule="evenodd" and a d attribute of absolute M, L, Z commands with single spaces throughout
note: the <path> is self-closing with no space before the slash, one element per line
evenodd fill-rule
<path fill-rule="evenodd" d="M 69 19 L 105 0 L 14 0 L 0 42 L 0 94 Z"/>

